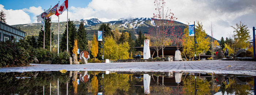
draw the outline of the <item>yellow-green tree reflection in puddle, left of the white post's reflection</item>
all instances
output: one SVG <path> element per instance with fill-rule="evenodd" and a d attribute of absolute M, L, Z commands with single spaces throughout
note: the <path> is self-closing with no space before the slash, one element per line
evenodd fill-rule
<path fill-rule="evenodd" d="M 127 92 L 130 88 L 129 74 L 108 74 L 104 75 L 104 94 L 105 95 L 114 95 L 117 93 L 117 90 L 123 90 Z M 102 80 L 100 80 L 102 85 Z"/>

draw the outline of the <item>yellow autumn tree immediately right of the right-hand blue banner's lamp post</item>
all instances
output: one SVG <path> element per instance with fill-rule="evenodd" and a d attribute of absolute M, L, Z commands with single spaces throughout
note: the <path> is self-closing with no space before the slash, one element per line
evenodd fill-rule
<path fill-rule="evenodd" d="M 210 38 L 206 38 L 206 32 L 203 29 L 203 24 L 202 22 L 197 21 L 196 22 L 196 41 L 197 41 L 197 45 L 196 45 L 196 55 L 199 56 L 200 54 L 208 51 L 208 49 L 210 48 L 209 44 L 210 44 Z M 200 56 L 199 56 L 200 58 Z"/>

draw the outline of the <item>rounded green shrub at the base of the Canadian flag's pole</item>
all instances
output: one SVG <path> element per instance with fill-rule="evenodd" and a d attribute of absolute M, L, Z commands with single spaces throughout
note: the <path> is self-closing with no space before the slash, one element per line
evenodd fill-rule
<path fill-rule="evenodd" d="M 69 57 L 70 54 L 67 51 L 59 53 L 59 56 L 58 54 L 54 54 L 53 64 L 69 64 Z"/>

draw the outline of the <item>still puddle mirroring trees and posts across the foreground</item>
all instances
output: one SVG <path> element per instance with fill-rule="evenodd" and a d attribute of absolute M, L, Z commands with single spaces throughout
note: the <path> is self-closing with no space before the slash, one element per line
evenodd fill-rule
<path fill-rule="evenodd" d="M 10 72 L 0 76 L 1 95 L 254 94 L 254 77 L 245 75 L 63 70 Z"/>

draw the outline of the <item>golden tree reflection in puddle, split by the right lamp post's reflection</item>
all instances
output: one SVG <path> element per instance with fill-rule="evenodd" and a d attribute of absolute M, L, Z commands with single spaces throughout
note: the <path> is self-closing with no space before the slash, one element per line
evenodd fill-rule
<path fill-rule="evenodd" d="M 197 95 L 206 95 L 210 93 L 210 84 L 208 81 L 200 79 L 199 77 L 196 78 L 196 92 Z M 184 88 L 185 94 L 190 95 L 195 93 L 195 76 L 189 75 L 189 77 L 184 79 Z"/>

